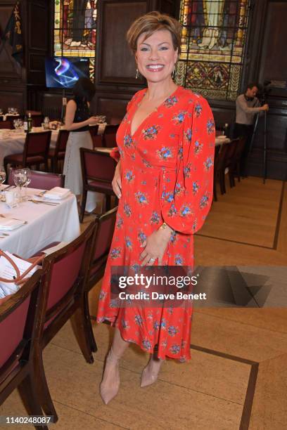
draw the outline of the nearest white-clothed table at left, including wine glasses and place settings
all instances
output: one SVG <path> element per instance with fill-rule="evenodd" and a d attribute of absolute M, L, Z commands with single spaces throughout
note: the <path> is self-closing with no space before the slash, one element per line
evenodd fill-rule
<path fill-rule="evenodd" d="M 77 200 L 70 190 L 28 188 L 29 169 L 15 170 L 13 181 L 0 185 L 2 250 L 28 258 L 51 242 L 70 242 L 79 235 Z"/>

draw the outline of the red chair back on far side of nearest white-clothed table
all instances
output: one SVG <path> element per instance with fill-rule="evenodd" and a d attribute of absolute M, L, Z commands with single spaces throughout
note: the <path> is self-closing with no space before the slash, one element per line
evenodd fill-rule
<path fill-rule="evenodd" d="M 8 184 L 14 185 L 13 169 L 9 169 Z M 51 190 L 54 187 L 63 188 L 65 185 L 65 175 L 52 174 L 46 171 L 31 170 L 31 182 L 28 188 L 38 188 L 39 190 Z"/>

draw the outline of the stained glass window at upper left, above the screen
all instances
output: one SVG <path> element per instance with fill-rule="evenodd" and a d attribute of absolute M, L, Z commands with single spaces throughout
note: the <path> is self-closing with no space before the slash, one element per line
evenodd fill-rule
<path fill-rule="evenodd" d="M 55 0 L 54 55 L 88 57 L 94 80 L 96 0 Z"/>

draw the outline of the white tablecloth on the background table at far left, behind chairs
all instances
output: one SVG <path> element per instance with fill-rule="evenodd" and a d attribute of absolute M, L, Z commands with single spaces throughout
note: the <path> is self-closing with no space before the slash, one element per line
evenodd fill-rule
<path fill-rule="evenodd" d="M 33 133 L 43 131 L 42 127 L 34 127 Z M 52 131 L 51 148 L 55 147 L 58 137 L 58 130 Z M 4 157 L 11 154 L 20 154 L 24 150 L 26 133 L 22 130 L 0 129 L 0 164 L 3 164 Z"/>

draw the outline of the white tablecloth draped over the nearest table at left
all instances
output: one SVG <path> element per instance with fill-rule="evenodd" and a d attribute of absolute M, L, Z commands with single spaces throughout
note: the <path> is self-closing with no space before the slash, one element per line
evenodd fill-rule
<path fill-rule="evenodd" d="M 40 190 L 28 188 L 28 195 Z M 79 216 L 75 195 L 60 201 L 57 206 L 20 203 L 17 208 L 9 209 L 6 203 L 0 202 L 0 214 L 27 221 L 27 224 L 15 230 L 5 230 L 8 236 L 0 238 L 0 248 L 27 258 L 51 242 L 70 242 L 80 233 Z M 4 230 L 0 228 L 1 233 Z"/>

